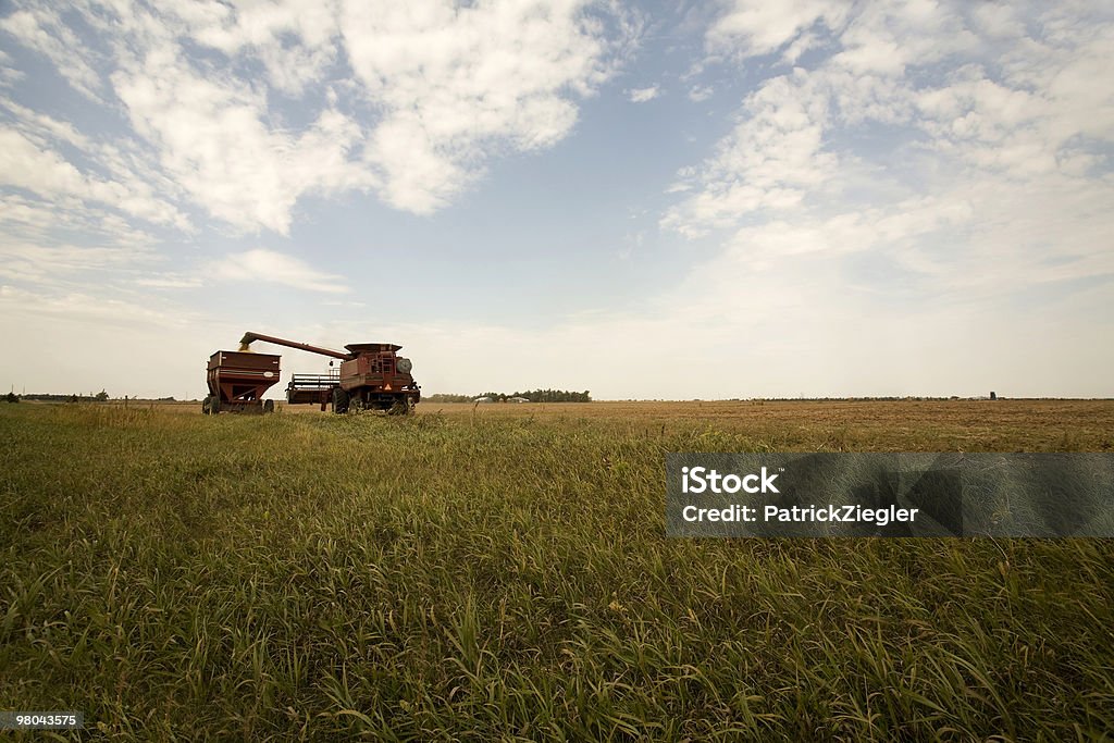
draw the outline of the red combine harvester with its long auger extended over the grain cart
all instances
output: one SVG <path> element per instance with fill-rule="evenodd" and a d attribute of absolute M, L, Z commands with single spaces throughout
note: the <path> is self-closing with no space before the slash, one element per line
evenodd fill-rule
<path fill-rule="evenodd" d="M 286 402 L 290 404 L 320 404 L 325 410 L 332 402 L 333 412 L 338 413 L 383 410 L 404 416 L 412 412 L 421 399 L 421 388 L 410 375 L 413 364 L 398 355 L 401 345 L 349 343 L 344 352 L 273 335 L 244 333 L 240 350 L 247 351 L 255 341 L 320 353 L 341 362 L 340 368 L 329 374 L 294 374 L 286 385 Z"/>

